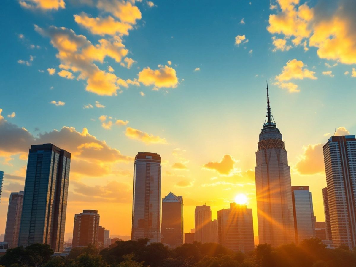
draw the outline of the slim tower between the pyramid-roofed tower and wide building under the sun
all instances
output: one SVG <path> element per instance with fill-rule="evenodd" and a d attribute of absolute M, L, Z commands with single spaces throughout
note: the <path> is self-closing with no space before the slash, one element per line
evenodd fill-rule
<path fill-rule="evenodd" d="M 211 210 L 210 206 L 202 205 L 195 208 L 194 239 L 200 243 L 211 242 Z"/>

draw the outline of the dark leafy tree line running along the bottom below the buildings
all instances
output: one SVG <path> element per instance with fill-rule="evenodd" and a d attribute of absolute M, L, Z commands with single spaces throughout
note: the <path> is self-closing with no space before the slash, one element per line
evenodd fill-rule
<path fill-rule="evenodd" d="M 73 248 L 67 257 L 53 256 L 49 245 L 33 244 L 6 251 L 0 267 L 356 267 L 356 249 L 326 248 L 320 239 L 272 247 L 257 245 L 248 253 L 234 252 L 216 243 L 184 244 L 169 249 L 148 239 L 116 241 L 99 251 Z"/>

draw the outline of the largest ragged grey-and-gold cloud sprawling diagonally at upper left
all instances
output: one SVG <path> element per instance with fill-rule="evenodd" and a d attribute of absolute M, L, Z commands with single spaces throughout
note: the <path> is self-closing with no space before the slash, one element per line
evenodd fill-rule
<path fill-rule="evenodd" d="M 110 40 L 100 39 L 98 44 L 93 45 L 87 37 L 76 35 L 68 28 L 50 26 L 42 29 L 35 25 L 35 30 L 42 36 L 48 36 L 53 47 L 58 49 L 57 58 L 61 61 L 61 69 L 78 72 L 78 79 L 87 80 L 87 91 L 98 95 L 116 95 L 116 91 L 120 89 L 119 84 L 122 85 L 122 79 L 113 73 L 100 70 L 94 62 L 103 63 L 106 57 L 120 62 L 126 56 L 128 50 L 119 36 Z M 124 85 L 127 86 L 126 83 Z"/>

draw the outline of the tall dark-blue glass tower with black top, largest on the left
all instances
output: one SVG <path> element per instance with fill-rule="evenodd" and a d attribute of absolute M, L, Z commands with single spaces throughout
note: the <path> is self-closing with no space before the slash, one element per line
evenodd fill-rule
<path fill-rule="evenodd" d="M 63 251 L 70 153 L 52 144 L 28 153 L 19 246 L 48 244 Z"/>

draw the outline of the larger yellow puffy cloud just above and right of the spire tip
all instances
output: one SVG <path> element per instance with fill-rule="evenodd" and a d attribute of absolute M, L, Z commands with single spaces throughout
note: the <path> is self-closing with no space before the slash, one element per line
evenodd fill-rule
<path fill-rule="evenodd" d="M 279 82 L 288 81 L 290 79 L 317 79 L 314 74 L 315 72 L 303 68 L 304 63 L 297 59 L 289 60 L 286 66 L 283 67 L 282 73 L 277 75 L 275 79 Z"/>

